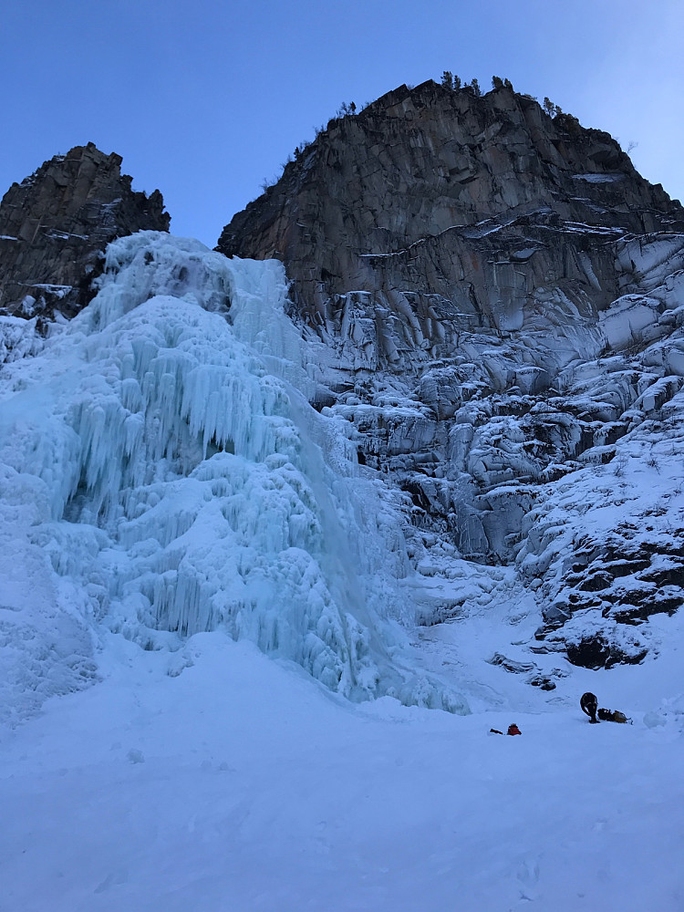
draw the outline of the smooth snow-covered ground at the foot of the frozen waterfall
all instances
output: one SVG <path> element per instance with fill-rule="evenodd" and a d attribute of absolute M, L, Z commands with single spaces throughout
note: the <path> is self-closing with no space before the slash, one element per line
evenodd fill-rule
<path fill-rule="evenodd" d="M 185 655 L 109 635 L 101 683 L 5 734 L 4 912 L 683 907 L 672 663 L 575 679 L 634 719 L 595 726 L 529 687 L 514 713 L 352 704 L 220 632 Z"/>

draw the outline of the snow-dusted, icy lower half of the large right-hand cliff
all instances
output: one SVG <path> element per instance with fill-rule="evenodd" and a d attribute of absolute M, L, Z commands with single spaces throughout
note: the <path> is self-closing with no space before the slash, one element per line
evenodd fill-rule
<path fill-rule="evenodd" d="M 331 407 L 368 471 L 409 493 L 428 552 L 451 542 L 515 566 L 542 616 L 531 648 L 589 668 L 657 655 L 649 619 L 684 603 L 684 237 L 614 253 L 639 279 L 593 320 L 564 323 L 550 302 L 554 333 L 463 332 L 451 358 L 408 377 L 358 372 Z"/>

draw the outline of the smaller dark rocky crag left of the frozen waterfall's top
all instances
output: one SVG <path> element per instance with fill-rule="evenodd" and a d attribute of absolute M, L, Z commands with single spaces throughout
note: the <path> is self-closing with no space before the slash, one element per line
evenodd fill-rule
<path fill-rule="evenodd" d="M 121 157 L 93 143 L 46 161 L 0 202 L 0 312 L 73 316 L 92 297 L 99 254 L 115 237 L 168 231 L 159 191 L 131 190 Z"/>

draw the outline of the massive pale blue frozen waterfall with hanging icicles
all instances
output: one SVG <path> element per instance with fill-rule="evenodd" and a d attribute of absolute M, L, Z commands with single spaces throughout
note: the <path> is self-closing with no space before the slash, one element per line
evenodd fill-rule
<path fill-rule="evenodd" d="M 399 670 L 399 519 L 347 422 L 308 404 L 282 266 L 145 232 L 110 244 L 99 285 L 5 366 L 3 507 L 52 587 L 16 596 L 24 642 L 67 604 L 84 661 L 100 625 L 171 649 L 223 627 L 353 699 L 466 711 Z"/>

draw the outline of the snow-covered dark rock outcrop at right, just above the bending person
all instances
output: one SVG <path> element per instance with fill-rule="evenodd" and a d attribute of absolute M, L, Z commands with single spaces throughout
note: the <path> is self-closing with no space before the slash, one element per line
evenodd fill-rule
<path fill-rule="evenodd" d="M 540 647 L 610 668 L 658 654 L 658 615 L 684 604 L 684 396 L 643 421 L 617 455 L 549 485 L 523 523 L 518 566 L 534 580 Z"/>

